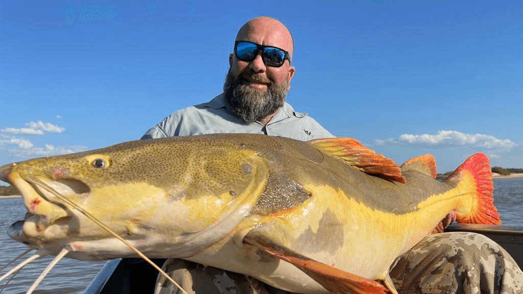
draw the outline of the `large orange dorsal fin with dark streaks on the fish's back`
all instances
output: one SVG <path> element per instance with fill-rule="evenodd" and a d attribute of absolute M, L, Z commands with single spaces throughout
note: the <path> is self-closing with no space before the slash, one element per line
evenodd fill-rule
<path fill-rule="evenodd" d="M 391 159 L 377 154 L 358 140 L 351 138 L 324 138 L 309 141 L 324 152 L 338 157 L 360 171 L 390 181 L 405 183 L 400 167 Z"/>

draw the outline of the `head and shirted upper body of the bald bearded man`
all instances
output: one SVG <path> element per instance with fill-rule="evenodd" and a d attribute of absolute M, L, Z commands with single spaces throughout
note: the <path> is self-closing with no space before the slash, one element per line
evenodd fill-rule
<path fill-rule="evenodd" d="M 236 36 L 223 93 L 173 112 L 142 139 L 210 133 L 261 133 L 307 141 L 334 137 L 285 98 L 294 76 L 293 42 L 278 20 L 249 20 Z"/>

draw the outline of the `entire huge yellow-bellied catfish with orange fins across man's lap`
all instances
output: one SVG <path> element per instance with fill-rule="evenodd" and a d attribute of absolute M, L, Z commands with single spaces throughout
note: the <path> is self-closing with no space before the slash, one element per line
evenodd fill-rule
<path fill-rule="evenodd" d="M 394 259 L 449 212 L 500 223 L 485 155 L 435 176 L 431 155 L 400 168 L 354 139 L 258 134 L 132 141 L 0 167 L 28 210 L 8 233 L 40 255 L 136 256 L 97 219 L 148 257 L 299 293 L 395 293 Z"/>

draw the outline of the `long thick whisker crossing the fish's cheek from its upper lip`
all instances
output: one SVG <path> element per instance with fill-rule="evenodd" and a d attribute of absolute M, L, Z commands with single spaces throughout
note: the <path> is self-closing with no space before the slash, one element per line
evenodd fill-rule
<path fill-rule="evenodd" d="M 62 201 L 64 201 L 65 203 L 69 204 L 71 207 L 73 207 L 74 209 L 78 210 L 79 212 L 81 212 L 82 214 L 84 214 L 84 216 L 86 216 L 88 219 L 92 220 L 94 223 L 96 223 L 97 225 L 99 225 L 101 228 L 103 228 L 104 230 L 106 230 L 107 232 L 109 232 L 111 235 L 113 235 L 116 239 L 120 240 L 121 242 L 123 242 L 123 244 L 126 244 L 129 248 L 131 248 L 132 251 L 134 251 L 136 254 L 138 254 L 138 256 L 140 256 L 141 258 L 143 258 L 147 263 L 149 263 L 150 265 L 152 265 L 157 271 L 158 273 L 160 273 L 162 276 L 164 276 L 166 279 L 168 279 L 170 282 L 172 282 L 178 289 L 180 289 L 180 291 L 184 294 L 188 294 L 183 288 L 180 287 L 180 285 L 178 285 L 178 283 L 176 281 L 173 280 L 173 278 L 171 278 L 169 275 L 167 275 L 167 273 L 165 273 L 159 266 L 157 266 L 155 263 L 153 263 L 151 261 L 151 259 L 149 259 L 149 257 L 145 256 L 145 254 L 143 254 L 140 250 L 138 250 L 137 247 L 134 247 L 131 243 L 127 242 L 126 240 L 124 240 L 120 235 L 118 235 L 117 233 L 115 233 L 113 230 L 111 230 L 109 227 L 107 227 L 103 222 L 99 221 L 95 216 L 93 216 L 93 214 L 89 213 L 87 210 L 83 209 L 81 206 L 77 205 L 76 203 L 74 203 L 73 201 L 65 198 L 64 196 L 62 196 L 60 193 L 58 193 L 58 191 L 54 190 L 52 187 L 50 187 L 49 185 L 47 185 L 46 183 L 44 183 L 42 180 L 40 180 L 39 178 L 37 177 L 34 177 L 34 176 L 30 176 L 29 179 L 31 180 L 31 182 L 35 183 L 35 184 L 38 184 L 40 185 L 42 188 L 46 189 L 49 193 L 53 194 L 54 196 L 60 198 Z M 29 294 L 26 293 L 26 294 Z"/>

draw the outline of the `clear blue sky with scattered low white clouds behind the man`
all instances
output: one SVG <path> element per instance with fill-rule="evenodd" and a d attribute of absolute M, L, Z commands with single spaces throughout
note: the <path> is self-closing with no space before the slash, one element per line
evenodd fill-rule
<path fill-rule="evenodd" d="M 293 34 L 287 100 L 338 137 L 439 172 L 523 168 L 520 1 L 0 3 L 0 164 L 137 140 L 221 93 L 237 30 Z"/>

